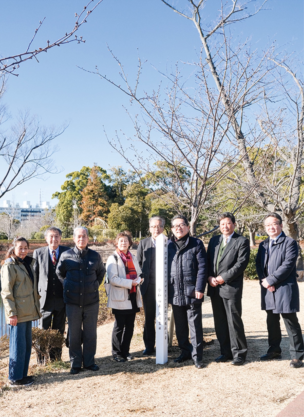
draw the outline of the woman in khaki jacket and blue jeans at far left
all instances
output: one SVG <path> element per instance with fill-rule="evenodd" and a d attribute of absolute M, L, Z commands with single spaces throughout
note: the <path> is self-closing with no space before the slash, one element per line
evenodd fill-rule
<path fill-rule="evenodd" d="M 32 350 L 32 320 L 41 317 L 35 259 L 28 255 L 28 241 L 18 237 L 8 250 L 1 268 L 1 296 L 5 320 L 10 325 L 8 379 L 12 386 L 33 384 L 28 377 Z"/>

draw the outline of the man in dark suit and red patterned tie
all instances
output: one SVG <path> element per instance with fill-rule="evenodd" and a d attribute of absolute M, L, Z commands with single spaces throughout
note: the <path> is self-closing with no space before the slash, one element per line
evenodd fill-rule
<path fill-rule="evenodd" d="M 60 246 L 61 230 L 49 227 L 45 231 L 45 240 L 48 246 L 35 249 L 33 258 L 36 259 L 35 272 L 38 281 L 40 299 L 40 312 L 42 314 L 43 329 L 59 330 L 61 334 L 65 329 L 65 304 L 63 302 L 63 286 L 56 275 L 56 266 L 60 255 L 67 251 L 67 246 Z M 61 358 L 61 348 L 50 351 L 51 360 Z"/>

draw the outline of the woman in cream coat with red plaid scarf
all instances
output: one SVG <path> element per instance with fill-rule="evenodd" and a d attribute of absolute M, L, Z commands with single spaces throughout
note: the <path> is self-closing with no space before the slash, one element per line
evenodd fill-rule
<path fill-rule="evenodd" d="M 131 360 L 129 349 L 134 330 L 135 315 L 141 303 L 141 269 L 136 256 L 129 251 L 132 236 L 129 231 L 118 233 L 115 239 L 116 251 L 106 263 L 110 288 L 108 307 L 112 308 L 115 323 L 112 332 L 112 354 L 117 362 Z"/>

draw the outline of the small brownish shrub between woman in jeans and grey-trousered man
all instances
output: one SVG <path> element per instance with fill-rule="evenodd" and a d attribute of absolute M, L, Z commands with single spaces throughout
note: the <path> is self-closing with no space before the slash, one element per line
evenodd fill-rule
<path fill-rule="evenodd" d="M 43 365 L 49 361 L 50 349 L 63 347 L 65 338 L 58 330 L 32 328 L 32 346 L 35 350 L 38 363 L 43 361 Z"/>

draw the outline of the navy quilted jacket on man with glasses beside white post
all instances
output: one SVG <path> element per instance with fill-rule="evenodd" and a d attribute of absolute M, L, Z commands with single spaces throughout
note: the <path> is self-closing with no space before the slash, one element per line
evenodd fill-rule
<path fill-rule="evenodd" d="M 177 306 L 201 303 L 195 291 L 204 293 L 207 283 L 206 249 L 200 239 L 189 236 L 179 249 L 172 236 L 168 244 L 168 301 Z"/>

